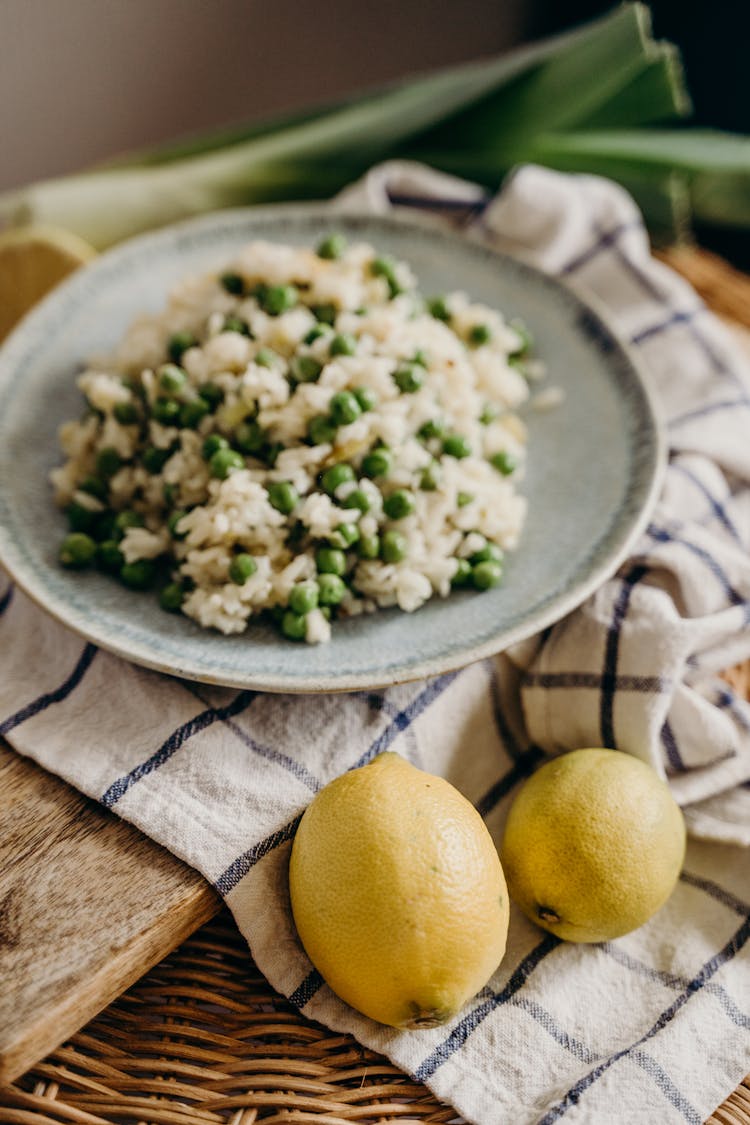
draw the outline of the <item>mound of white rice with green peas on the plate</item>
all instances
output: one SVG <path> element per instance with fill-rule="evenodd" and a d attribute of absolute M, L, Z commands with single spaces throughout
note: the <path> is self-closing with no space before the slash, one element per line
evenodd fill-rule
<path fill-rule="evenodd" d="M 540 374 L 526 328 L 337 234 L 253 242 L 79 376 L 52 474 L 70 534 L 169 612 L 292 640 L 336 616 L 497 586 L 518 542 Z"/>

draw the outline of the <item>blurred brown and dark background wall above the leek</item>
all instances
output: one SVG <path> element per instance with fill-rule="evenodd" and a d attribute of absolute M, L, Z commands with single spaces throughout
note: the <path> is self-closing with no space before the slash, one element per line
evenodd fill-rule
<path fill-rule="evenodd" d="M 504 51 L 611 7 L 613 0 L 0 0 L 0 190 Z M 650 7 L 657 35 L 683 50 L 696 120 L 750 132 L 748 0 Z"/>

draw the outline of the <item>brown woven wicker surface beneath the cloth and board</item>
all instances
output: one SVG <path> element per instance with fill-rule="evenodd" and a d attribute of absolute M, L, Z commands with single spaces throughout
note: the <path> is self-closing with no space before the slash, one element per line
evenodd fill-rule
<path fill-rule="evenodd" d="M 750 279 L 694 250 L 662 255 L 750 327 Z M 726 673 L 750 696 L 750 663 Z M 279 997 L 223 912 L 12 1086 L 9 1125 L 439 1125 L 460 1122 L 387 1060 Z M 708 1118 L 750 1125 L 750 1076 Z"/>

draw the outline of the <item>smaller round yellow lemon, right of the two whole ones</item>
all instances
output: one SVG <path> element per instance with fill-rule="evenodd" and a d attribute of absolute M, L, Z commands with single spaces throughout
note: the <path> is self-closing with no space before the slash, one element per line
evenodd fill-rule
<path fill-rule="evenodd" d="M 572 750 L 516 796 L 500 849 L 510 897 L 568 942 L 606 942 L 669 898 L 685 820 L 651 766 L 617 750 Z"/>

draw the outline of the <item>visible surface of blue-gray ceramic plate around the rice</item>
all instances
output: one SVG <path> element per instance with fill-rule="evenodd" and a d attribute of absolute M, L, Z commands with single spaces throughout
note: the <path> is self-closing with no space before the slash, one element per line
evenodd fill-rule
<path fill-rule="evenodd" d="M 220 266 L 255 237 L 315 244 L 343 230 L 406 259 L 425 292 L 464 289 L 521 316 L 563 404 L 530 412 L 522 490 L 528 518 L 500 587 L 338 622 L 329 645 L 295 645 L 263 624 L 223 637 L 162 612 L 153 596 L 56 562 L 65 521 L 47 483 L 57 426 L 80 414 L 74 376 L 170 286 Z M 279 692 L 385 686 L 445 672 L 575 609 L 627 554 L 656 500 L 663 442 L 632 356 L 600 314 L 515 260 L 434 226 L 323 207 L 224 212 L 135 238 L 53 292 L 0 350 L 0 560 L 43 609 L 138 664 L 175 676 Z"/>

